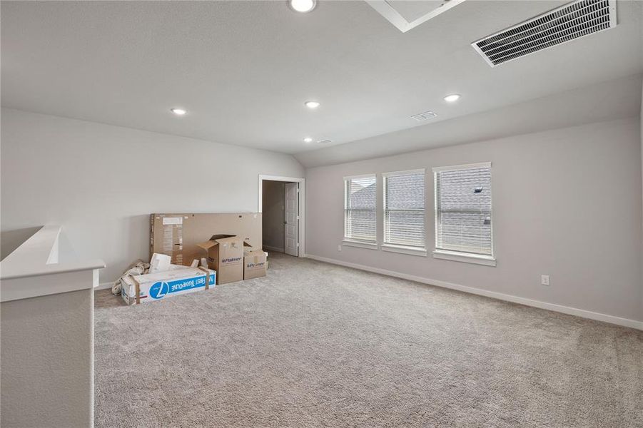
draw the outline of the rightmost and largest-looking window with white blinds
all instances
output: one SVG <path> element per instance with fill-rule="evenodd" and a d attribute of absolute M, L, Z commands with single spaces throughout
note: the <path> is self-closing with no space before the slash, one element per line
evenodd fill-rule
<path fill-rule="evenodd" d="M 491 163 L 433 168 L 435 249 L 493 255 Z"/>

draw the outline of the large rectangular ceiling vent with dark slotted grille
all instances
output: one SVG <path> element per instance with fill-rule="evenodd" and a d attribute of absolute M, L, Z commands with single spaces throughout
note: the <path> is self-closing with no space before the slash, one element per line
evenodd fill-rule
<path fill-rule="evenodd" d="M 492 66 L 615 27 L 616 0 L 577 0 L 471 44 Z"/>

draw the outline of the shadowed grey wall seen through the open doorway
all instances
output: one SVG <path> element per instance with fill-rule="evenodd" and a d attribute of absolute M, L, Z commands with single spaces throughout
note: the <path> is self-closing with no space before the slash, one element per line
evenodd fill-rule
<path fill-rule="evenodd" d="M 280 248 L 283 251 L 285 218 L 285 183 L 281 181 L 263 181 L 263 201 L 261 204 L 261 220 L 263 222 L 263 246 L 265 248 Z"/>

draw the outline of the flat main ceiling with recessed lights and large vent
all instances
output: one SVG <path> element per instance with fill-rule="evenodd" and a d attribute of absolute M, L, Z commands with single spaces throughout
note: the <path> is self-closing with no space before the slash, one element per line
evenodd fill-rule
<path fill-rule="evenodd" d="M 2 1 L 1 101 L 313 164 L 330 148 L 305 136 L 343 145 L 456 118 L 466 126 L 470 115 L 643 71 L 638 1 L 618 2 L 615 29 L 496 68 L 470 46 L 564 3 L 467 0 L 401 33 L 365 1 L 321 0 L 310 14 L 285 1 Z M 452 92 L 461 100 L 445 103 Z M 309 99 L 322 106 L 308 111 Z M 427 110 L 438 114 L 428 124 L 410 118 Z"/>

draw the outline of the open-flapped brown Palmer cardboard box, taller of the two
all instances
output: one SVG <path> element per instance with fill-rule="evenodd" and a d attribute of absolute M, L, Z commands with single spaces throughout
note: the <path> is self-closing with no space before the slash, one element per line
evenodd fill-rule
<path fill-rule="evenodd" d="M 249 245 L 241 237 L 212 235 L 210 240 L 197 246 L 207 251 L 208 267 L 216 270 L 217 284 L 243 280 L 243 248 Z"/>

